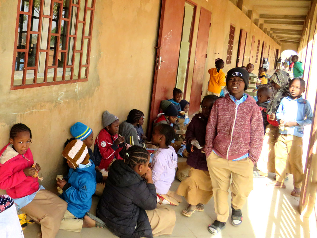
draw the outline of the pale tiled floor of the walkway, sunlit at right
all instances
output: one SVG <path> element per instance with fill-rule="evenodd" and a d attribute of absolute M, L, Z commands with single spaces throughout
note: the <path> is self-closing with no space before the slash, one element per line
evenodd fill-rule
<path fill-rule="evenodd" d="M 182 158 L 183 159 L 183 158 Z M 273 177 L 274 174 L 269 174 Z M 293 190 L 293 179 L 286 183 L 286 189 L 271 189 L 266 186 L 270 178 L 255 178 L 254 189 L 251 191 L 247 203 L 243 207 L 243 223 L 234 227 L 227 222 L 226 228 L 217 237 L 222 238 L 315 238 L 317 237 L 316 219 L 311 215 L 309 219 L 301 219 L 298 213 L 299 198 L 290 195 Z M 176 190 L 180 182 L 175 180 L 171 190 Z M 230 195 L 228 205 L 230 204 Z M 92 213 L 95 211 L 98 198 L 93 197 Z M 176 226 L 171 235 L 160 237 L 186 237 L 207 238 L 213 237 L 207 226 L 216 219 L 213 198 L 205 205 L 204 212 L 196 212 L 191 217 L 181 214 L 182 209 L 187 206 L 186 201 L 175 206 Z M 37 238 L 40 226 L 29 225 L 24 230 L 25 238 Z M 117 237 L 107 228 L 83 228 L 81 233 L 60 230 L 58 238 L 80 238 L 80 237 Z"/>

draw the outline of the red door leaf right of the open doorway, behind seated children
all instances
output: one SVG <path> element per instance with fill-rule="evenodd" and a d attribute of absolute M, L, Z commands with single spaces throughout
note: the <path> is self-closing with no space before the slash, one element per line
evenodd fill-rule
<path fill-rule="evenodd" d="M 201 8 L 197 34 L 193 80 L 191 83 L 191 106 L 189 107 L 189 114 L 197 112 L 200 106 L 204 83 L 205 63 L 207 58 L 210 18 L 211 12 L 204 8 Z"/>

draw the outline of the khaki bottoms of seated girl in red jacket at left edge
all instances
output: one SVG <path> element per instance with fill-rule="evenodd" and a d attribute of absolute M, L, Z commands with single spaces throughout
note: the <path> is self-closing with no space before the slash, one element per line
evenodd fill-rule
<path fill-rule="evenodd" d="M 41 189 L 32 202 L 21 208 L 34 221 L 41 225 L 42 238 L 54 238 L 61 225 L 67 203 L 54 193 Z"/>

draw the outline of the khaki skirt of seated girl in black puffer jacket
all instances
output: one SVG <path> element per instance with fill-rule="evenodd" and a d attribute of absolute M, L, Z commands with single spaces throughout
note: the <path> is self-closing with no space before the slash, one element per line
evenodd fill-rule
<path fill-rule="evenodd" d="M 171 235 L 176 222 L 175 211 L 164 205 L 157 204 L 156 209 L 146 210 L 153 236 Z"/>

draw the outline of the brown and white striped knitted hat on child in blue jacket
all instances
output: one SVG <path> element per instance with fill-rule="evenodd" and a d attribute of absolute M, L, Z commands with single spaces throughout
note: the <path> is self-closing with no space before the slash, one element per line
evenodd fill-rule
<path fill-rule="evenodd" d="M 89 162 L 87 146 L 81 140 L 69 142 L 61 154 L 73 164 L 74 168 L 77 168 L 79 164 L 88 164 Z"/>

